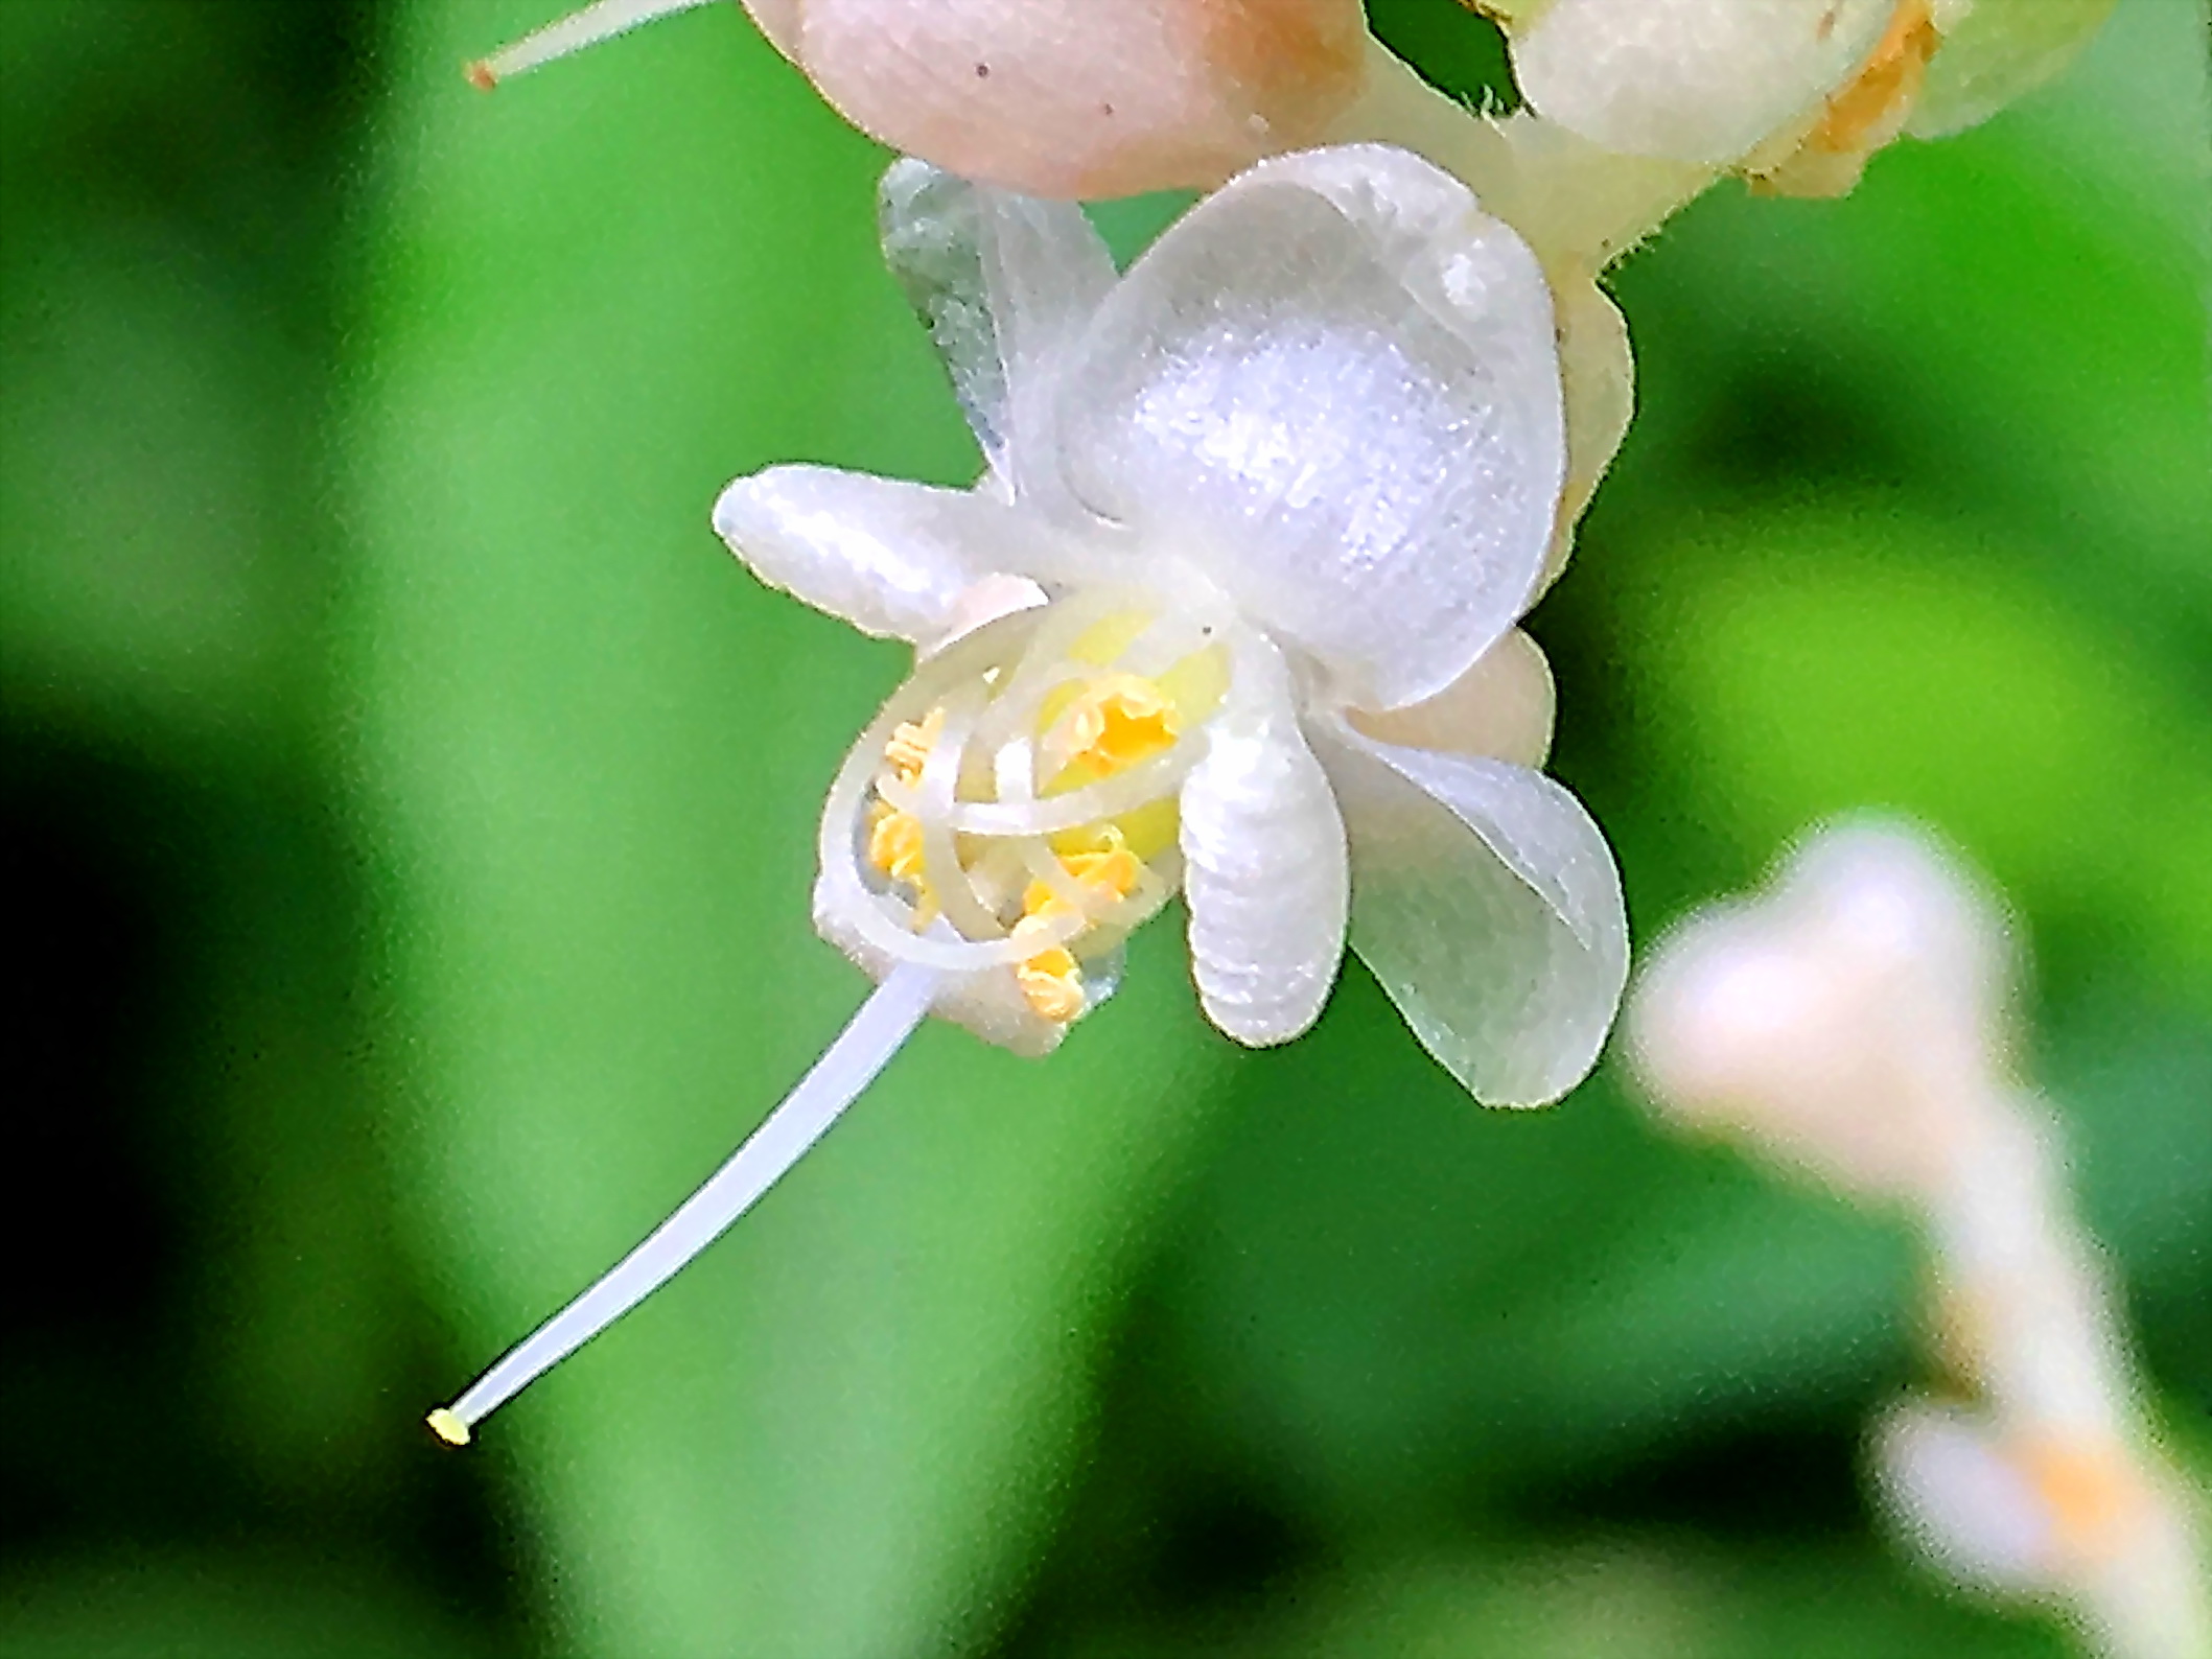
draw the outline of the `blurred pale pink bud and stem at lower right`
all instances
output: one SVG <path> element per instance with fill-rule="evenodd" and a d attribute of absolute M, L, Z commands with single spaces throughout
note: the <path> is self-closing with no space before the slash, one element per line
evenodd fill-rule
<path fill-rule="evenodd" d="M 2070 1608 L 2115 1659 L 2212 1652 L 2197 1517 L 2048 1115 L 2008 1084 L 2006 945 L 2002 911 L 1916 832 L 1829 830 L 1770 896 L 1659 947 L 1635 1064 L 1674 1121 L 1918 1219 L 1953 1398 L 1909 1398 L 1876 1431 L 1902 1531 L 1964 1584 Z"/>

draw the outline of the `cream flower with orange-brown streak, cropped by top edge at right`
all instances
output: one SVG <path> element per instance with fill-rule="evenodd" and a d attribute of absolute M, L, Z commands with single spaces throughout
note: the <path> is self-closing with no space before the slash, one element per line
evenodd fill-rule
<path fill-rule="evenodd" d="M 1624 155 L 1840 195 L 1898 133 L 2055 75 L 2112 0 L 1473 0 L 1531 108 Z"/>

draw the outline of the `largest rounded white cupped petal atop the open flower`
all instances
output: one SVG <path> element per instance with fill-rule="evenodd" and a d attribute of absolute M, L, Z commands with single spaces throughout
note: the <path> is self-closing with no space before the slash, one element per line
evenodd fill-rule
<path fill-rule="evenodd" d="M 1371 708 L 1442 690 L 1513 624 L 1566 471 L 1535 257 L 1378 146 L 1265 161 L 1192 208 L 1108 296 L 1057 409 L 1077 498 Z"/>

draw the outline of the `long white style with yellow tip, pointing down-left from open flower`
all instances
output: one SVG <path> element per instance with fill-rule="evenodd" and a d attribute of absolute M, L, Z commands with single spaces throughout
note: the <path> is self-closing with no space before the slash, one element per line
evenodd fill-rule
<path fill-rule="evenodd" d="M 675 1214 L 591 1290 L 484 1371 L 451 1407 L 429 1413 L 429 1427 L 438 1438 L 456 1447 L 467 1444 L 478 1422 L 637 1307 L 684 1263 L 714 1243 L 805 1157 L 814 1141 L 830 1133 L 830 1126 L 914 1035 L 940 987 L 942 978 L 933 969 L 916 962 L 894 969 L 830 1051 L 706 1186 L 677 1206 Z"/>

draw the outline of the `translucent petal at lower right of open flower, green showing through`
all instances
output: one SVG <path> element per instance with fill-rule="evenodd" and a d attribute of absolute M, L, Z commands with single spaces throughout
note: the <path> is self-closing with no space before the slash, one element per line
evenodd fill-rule
<path fill-rule="evenodd" d="M 1486 1106 L 1582 1082 L 1628 978 L 1621 878 L 1582 803 L 1347 728 L 1321 757 L 1352 838 L 1352 947 L 1422 1046 Z"/>

